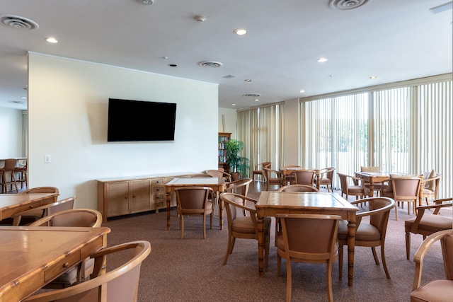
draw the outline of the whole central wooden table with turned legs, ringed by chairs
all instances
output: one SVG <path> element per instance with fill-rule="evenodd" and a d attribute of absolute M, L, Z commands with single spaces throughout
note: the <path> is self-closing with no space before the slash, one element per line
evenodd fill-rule
<path fill-rule="evenodd" d="M 330 214 L 348 221 L 348 285 L 354 278 L 355 214 L 358 210 L 337 193 L 263 191 L 255 204 L 258 226 L 258 272 L 264 276 L 264 217 L 276 214 Z"/>

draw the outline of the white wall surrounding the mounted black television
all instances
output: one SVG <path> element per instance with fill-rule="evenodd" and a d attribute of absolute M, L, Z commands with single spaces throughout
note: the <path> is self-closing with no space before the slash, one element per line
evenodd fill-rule
<path fill-rule="evenodd" d="M 29 185 L 96 209 L 96 179 L 216 168 L 217 95 L 213 83 L 30 53 Z M 107 143 L 108 98 L 177 103 L 175 141 Z"/>

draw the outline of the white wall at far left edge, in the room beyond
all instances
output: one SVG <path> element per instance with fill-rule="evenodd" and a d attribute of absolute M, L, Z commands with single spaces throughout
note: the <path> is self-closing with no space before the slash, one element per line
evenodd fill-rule
<path fill-rule="evenodd" d="M 0 159 L 23 157 L 22 110 L 0 108 Z"/>

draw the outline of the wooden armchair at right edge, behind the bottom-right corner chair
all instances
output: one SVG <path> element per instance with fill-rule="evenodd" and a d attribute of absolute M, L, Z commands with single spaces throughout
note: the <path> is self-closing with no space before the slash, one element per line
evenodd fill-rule
<path fill-rule="evenodd" d="M 409 260 L 411 252 L 411 233 L 430 236 L 438 231 L 453 228 L 453 218 L 451 211 L 447 215 L 440 215 L 440 209 L 452 207 L 453 198 L 437 199 L 434 205 L 417 208 L 417 216 L 404 222 L 406 229 L 406 258 Z M 427 211 L 428 210 L 428 211 Z M 432 214 L 431 214 L 432 211 Z"/>

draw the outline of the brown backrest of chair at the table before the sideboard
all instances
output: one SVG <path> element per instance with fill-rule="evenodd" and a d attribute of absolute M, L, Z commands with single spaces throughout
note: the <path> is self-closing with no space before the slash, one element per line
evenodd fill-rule
<path fill-rule="evenodd" d="M 203 213 L 206 208 L 210 187 L 177 187 L 175 189 L 178 209 L 185 213 Z"/>

